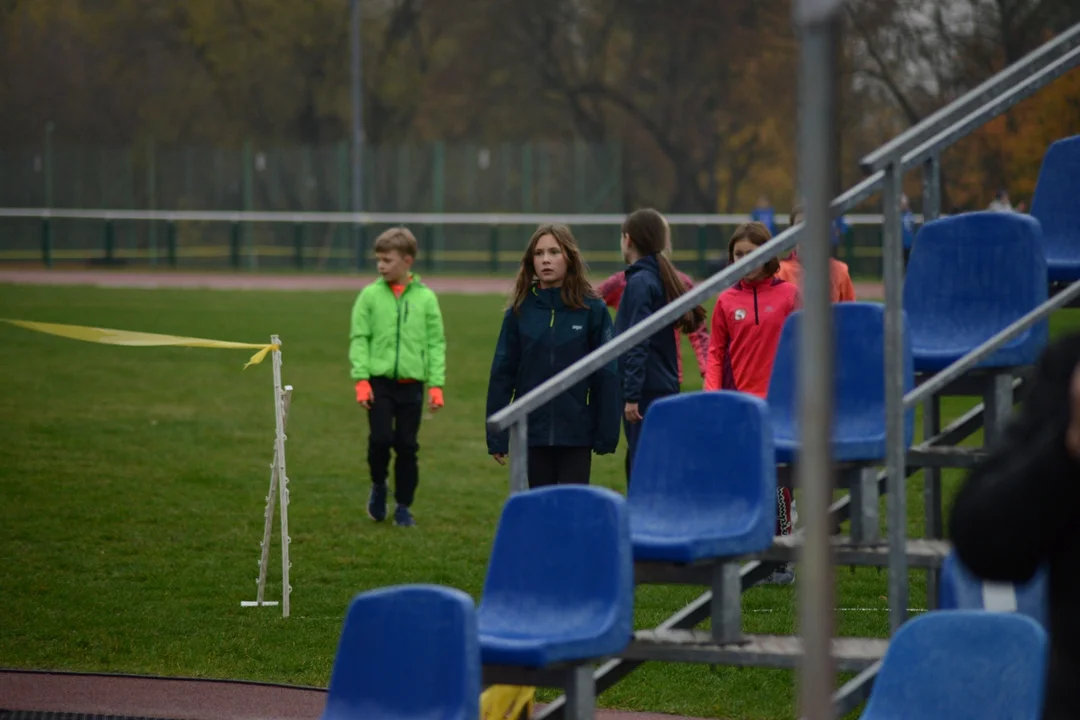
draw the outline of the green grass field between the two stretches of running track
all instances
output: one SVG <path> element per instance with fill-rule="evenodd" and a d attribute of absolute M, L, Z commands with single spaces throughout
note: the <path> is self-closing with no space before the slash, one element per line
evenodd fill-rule
<path fill-rule="evenodd" d="M 480 596 L 508 475 L 486 454 L 484 404 L 496 297 L 445 296 L 446 408 L 420 436 L 418 528 L 364 513 L 367 423 L 346 359 L 342 293 L 226 293 L 0 286 L 11 318 L 284 343 L 295 386 L 287 443 L 292 612 L 255 598 L 272 457 L 269 362 L 246 351 L 98 345 L 0 324 L 0 666 L 241 678 L 325 685 L 342 613 L 360 590 L 443 583 Z M 1055 317 L 1061 328 L 1072 318 Z M 687 368 L 696 367 L 684 343 Z M 688 373 L 693 376 L 694 372 Z M 697 378 L 687 389 L 699 386 Z M 946 416 L 964 409 L 950 404 Z M 594 480 L 624 489 L 623 448 Z M 946 476 L 946 493 L 958 475 Z M 908 484 L 909 531 L 922 487 Z M 280 597 L 276 526 L 268 598 Z M 924 582 L 912 573 L 912 604 Z M 652 626 L 693 588 L 637 590 Z M 748 631 L 795 630 L 795 588 L 744 596 Z M 839 630 L 888 633 L 886 574 L 838 569 Z M 852 610 L 854 609 L 854 610 Z M 607 707 L 789 718 L 794 674 L 645 666 Z M 550 695 L 544 695 L 550 696 Z"/>

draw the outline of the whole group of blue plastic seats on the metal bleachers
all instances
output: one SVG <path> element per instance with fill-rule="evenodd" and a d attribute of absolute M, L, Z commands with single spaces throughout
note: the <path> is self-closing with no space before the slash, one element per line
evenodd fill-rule
<path fill-rule="evenodd" d="M 1044 301 L 1049 282 L 1080 279 L 1080 219 L 1069 200 L 1077 167 L 1080 137 L 1048 151 L 1035 219 L 974 213 L 921 229 L 904 293 L 905 390 L 915 372 L 944 368 Z M 775 463 L 792 462 L 798 449 L 799 324 L 796 313 L 784 327 L 767 402 L 699 393 L 653 406 L 627 499 L 588 487 L 511 498 L 478 609 L 463 593 L 435 586 L 359 596 L 346 617 L 324 718 L 476 718 L 482 664 L 543 668 L 624 650 L 635 560 L 691 562 L 768 547 Z M 834 454 L 840 462 L 880 460 L 883 311 L 837 305 L 835 329 Z M 1045 323 L 1037 325 L 982 367 L 1031 364 L 1048 334 Z M 907 445 L 913 435 L 909 412 Z M 950 558 L 942 607 L 982 607 L 988 596 L 972 589 L 974 582 Z M 1021 596 L 1039 608 L 1032 588 Z M 930 613 L 894 637 L 864 717 L 886 717 L 896 702 L 905 715 L 918 703 L 926 711 L 915 716 L 926 718 L 989 717 L 1010 702 L 1037 706 L 1044 653 L 1044 633 L 1023 615 Z M 964 668 L 959 684 L 957 668 Z M 950 675 L 951 705 L 934 699 L 932 690 Z M 953 710 L 936 715 L 945 707 Z"/>

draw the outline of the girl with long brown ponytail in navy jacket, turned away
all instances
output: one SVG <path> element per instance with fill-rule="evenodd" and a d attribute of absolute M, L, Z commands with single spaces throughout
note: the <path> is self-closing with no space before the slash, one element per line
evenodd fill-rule
<path fill-rule="evenodd" d="M 667 244 L 664 216 L 651 208 L 634 210 L 622 223 L 620 246 L 626 264 L 626 289 L 615 318 L 616 334 L 625 332 L 686 293 L 686 285 L 663 250 Z M 656 400 L 674 395 L 678 384 L 678 345 L 675 329 L 690 334 L 705 322 L 697 305 L 619 358 L 622 381 L 623 429 L 626 432 L 626 486 L 630 487 L 634 450 L 642 421 Z"/>

